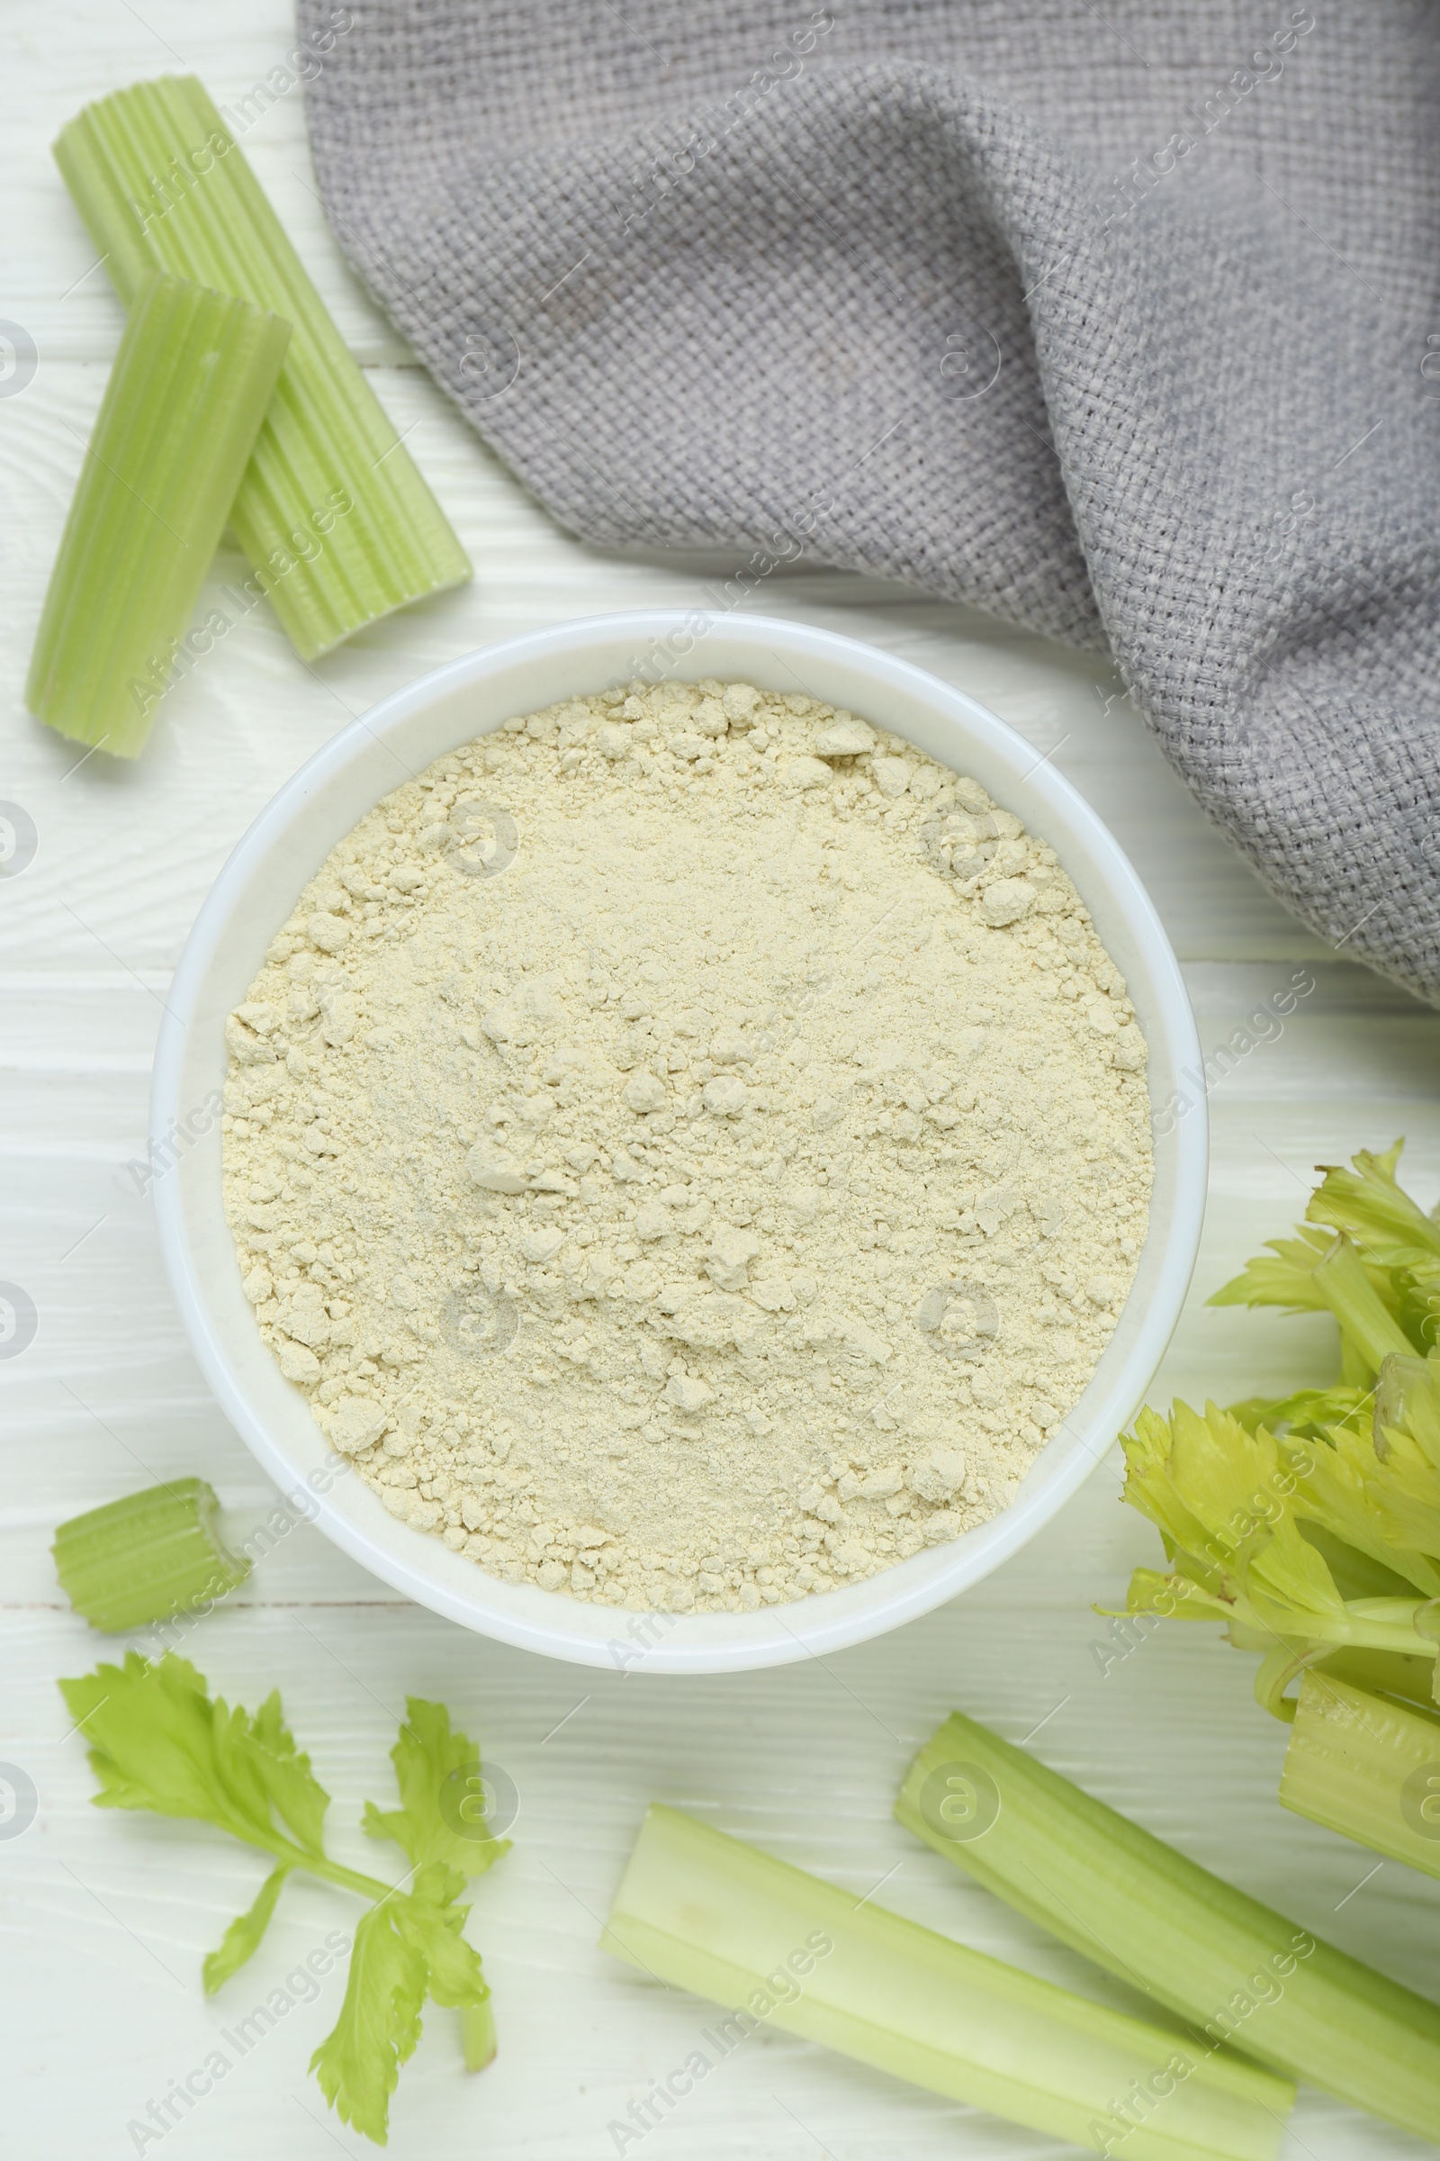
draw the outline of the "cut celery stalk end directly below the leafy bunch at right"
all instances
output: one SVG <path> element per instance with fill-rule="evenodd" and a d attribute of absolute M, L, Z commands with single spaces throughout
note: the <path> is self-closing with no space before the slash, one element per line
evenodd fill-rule
<path fill-rule="evenodd" d="M 1280 1800 L 1326 1830 L 1440 1876 L 1440 1718 L 1306 1673 Z"/>

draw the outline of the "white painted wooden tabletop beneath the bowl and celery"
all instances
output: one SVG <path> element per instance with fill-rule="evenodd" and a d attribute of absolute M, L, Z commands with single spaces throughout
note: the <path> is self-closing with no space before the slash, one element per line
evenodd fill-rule
<path fill-rule="evenodd" d="M 285 1891 L 255 1962 L 205 2001 L 199 1964 L 261 1880 L 261 1861 L 201 1826 L 89 1807 L 91 1774 L 56 1692 L 114 1642 L 65 1608 L 52 1526 L 80 1508 L 201 1472 L 231 1532 L 259 1519 L 266 1480 L 209 1400 L 160 1271 L 142 1156 L 160 998 L 190 921 L 250 817 L 371 700 L 438 661 L 566 616 L 684 605 L 695 571 L 611 560 L 561 534 L 501 469 L 356 290 L 322 220 L 302 99 L 244 134 L 358 359 L 475 560 L 475 583 L 380 625 L 307 672 L 257 609 L 164 704 L 136 767 L 82 759 L 26 717 L 22 683 L 41 594 L 121 311 L 47 156 L 86 99 L 142 76 L 196 71 L 222 102 L 294 45 L 283 0 L 60 0 L 0 11 L 6 197 L 0 313 L 39 348 L 35 380 L 0 398 L 0 797 L 39 849 L 0 880 L 4 1206 L 0 1279 L 37 1303 L 39 1333 L 0 1364 L 4 1608 L 0 1757 L 39 1811 L 0 1837 L 4 2090 L 17 2155 L 130 2155 L 147 2103 L 181 2081 L 352 1902 Z M 227 555 L 216 581 L 242 575 Z M 207 603 L 203 603 L 207 605 Z M 1410 1139 L 1408 1173 L 1440 1189 L 1440 1016 L 1302 931 L 1207 828 L 1118 683 L 963 607 L 831 573 L 777 573 L 751 603 L 902 650 L 974 692 L 1090 797 L 1149 880 L 1190 981 L 1205 1048 L 1308 966 L 1315 990 L 1211 1096 L 1213 1173 L 1196 1292 L 1153 1396 L 1250 1394 L 1323 1359 L 1323 1329 L 1207 1312 L 1203 1294 L 1304 1206 L 1310 1167 Z M 445 1699 L 520 1791 L 514 1854 L 475 1887 L 471 1936 L 494 1984 L 497 2064 L 468 2079 L 453 2014 L 432 2014 L 391 2118 L 399 2157 L 615 2152 L 607 2131 L 682 2062 L 708 2012 L 596 1949 L 622 1858 L 652 1796 L 868 1891 L 1034 1971 L 1103 1992 L 1071 1954 L 969 1889 L 889 1820 L 913 1746 L 950 1705 L 1036 1753 L 1306 1928 L 1440 1995 L 1440 1884 L 1287 1815 L 1285 1733 L 1250 1701 L 1250 1660 L 1209 1629 L 1159 1629 L 1129 1657 L 1095 1645 L 1097 1599 L 1153 1558 L 1118 1506 L 1112 1457 L 1049 1532 L 967 1599 L 825 1664 L 734 1679 L 583 1673 L 503 1649 L 391 1597 L 311 1530 L 296 1530 L 192 1638 L 233 1701 L 281 1686 L 335 1796 L 335 1845 L 391 1796 L 386 1753 L 406 1692 Z M 2 1826 L 0 1826 L 2 1828 Z M 1362 1882 L 1364 1878 L 1364 1882 Z M 1358 1889 L 1362 1884 L 1362 1889 Z M 300 2003 L 164 2137 L 188 2152 L 367 2152 L 326 2113 L 307 2059 L 341 1982 Z M 1118 2001 L 1118 1992 L 1112 1992 Z M 147 2152 L 153 2144 L 145 2146 Z M 633 2146 L 628 2148 L 635 2150 Z M 1416 2139 L 1302 2094 L 1287 2157 L 1399 2157 Z M 1051 2142 L 918 2094 L 782 2034 L 738 2049 L 646 2142 L 648 2161 L 775 2157 L 1019 2157 Z"/>

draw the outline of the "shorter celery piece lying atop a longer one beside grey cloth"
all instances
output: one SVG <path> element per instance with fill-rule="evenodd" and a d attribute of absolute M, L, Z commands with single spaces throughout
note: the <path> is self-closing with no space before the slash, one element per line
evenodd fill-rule
<path fill-rule="evenodd" d="M 248 300 L 140 281 L 30 655 L 26 702 L 60 735 L 140 754 L 287 341 Z"/>

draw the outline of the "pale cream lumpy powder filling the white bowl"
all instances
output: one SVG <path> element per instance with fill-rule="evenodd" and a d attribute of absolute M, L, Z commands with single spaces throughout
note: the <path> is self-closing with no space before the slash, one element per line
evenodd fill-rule
<path fill-rule="evenodd" d="M 807 696 L 505 722 L 227 1022 L 281 1372 L 507 1582 L 741 1612 L 995 1515 L 1146 1234 L 1144 1042 L 1054 851 Z"/>

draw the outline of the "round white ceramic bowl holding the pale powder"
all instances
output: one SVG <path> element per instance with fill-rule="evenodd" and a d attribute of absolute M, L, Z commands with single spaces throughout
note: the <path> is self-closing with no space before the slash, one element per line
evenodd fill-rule
<path fill-rule="evenodd" d="M 1079 888 L 1149 1039 L 1153 1102 L 1170 1096 L 1181 1065 L 1198 1063 L 1181 972 L 1144 886 L 1075 789 L 974 698 L 874 646 L 799 622 L 741 614 L 594 616 L 471 653 L 384 698 L 326 743 L 255 819 L 201 908 L 166 1001 L 151 1137 L 166 1145 L 181 1124 L 186 1145 L 158 1180 L 155 1212 L 175 1301 L 222 1411 L 281 1491 L 296 1495 L 339 1547 L 421 1606 L 529 1651 L 583 1666 L 721 1673 L 836 1651 L 911 1621 L 978 1584 L 1064 1506 L 1133 1415 L 1174 1329 L 1205 1212 L 1207 1119 L 1196 1104 L 1157 1135 L 1151 1227 L 1136 1286 L 1090 1385 L 1010 1506 L 952 1545 L 915 1554 L 868 1582 L 753 1614 L 628 1614 L 503 1584 L 438 1539 L 397 1524 L 363 1478 L 335 1478 L 337 1459 L 304 1396 L 281 1379 L 240 1286 L 220 1195 L 220 1128 L 203 1111 L 225 1083 L 225 1016 L 244 998 L 304 882 L 404 774 L 514 713 L 641 674 L 656 644 L 671 679 L 803 685 L 974 774 L 1051 843 Z"/>

